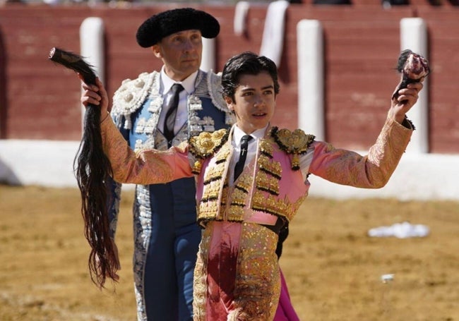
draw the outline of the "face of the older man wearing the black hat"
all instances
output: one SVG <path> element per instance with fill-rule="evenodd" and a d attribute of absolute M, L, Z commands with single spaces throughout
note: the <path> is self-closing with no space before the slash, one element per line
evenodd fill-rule
<path fill-rule="evenodd" d="M 200 30 L 184 30 L 162 38 L 153 46 L 153 53 L 162 59 L 166 74 L 184 80 L 201 66 L 203 42 Z"/>

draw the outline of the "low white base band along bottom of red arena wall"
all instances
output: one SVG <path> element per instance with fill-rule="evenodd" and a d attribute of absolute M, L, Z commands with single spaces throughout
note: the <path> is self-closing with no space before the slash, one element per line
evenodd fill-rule
<path fill-rule="evenodd" d="M 77 187 L 73 159 L 79 142 L 0 140 L 0 182 Z M 459 200 L 459 155 L 405 154 L 388 185 L 377 190 L 339 186 L 310 176 L 310 196 Z"/>

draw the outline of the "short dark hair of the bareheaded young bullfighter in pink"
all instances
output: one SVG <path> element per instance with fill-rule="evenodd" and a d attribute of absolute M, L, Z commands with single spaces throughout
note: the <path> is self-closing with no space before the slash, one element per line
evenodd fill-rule
<path fill-rule="evenodd" d="M 274 92 L 278 95 L 280 85 L 278 81 L 278 67 L 266 56 L 258 56 L 253 52 L 243 52 L 230 58 L 222 71 L 222 94 L 234 101 L 234 92 L 239 85 L 242 75 L 258 75 L 267 71 L 273 78 Z"/>

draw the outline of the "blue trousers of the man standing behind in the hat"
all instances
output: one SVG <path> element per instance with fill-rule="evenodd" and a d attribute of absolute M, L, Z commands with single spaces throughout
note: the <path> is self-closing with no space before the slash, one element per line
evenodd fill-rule
<path fill-rule="evenodd" d="M 150 186 L 151 234 L 143 289 L 149 321 L 193 320 L 193 272 L 201 242 L 193 178 Z"/>

